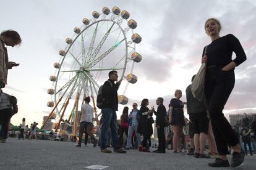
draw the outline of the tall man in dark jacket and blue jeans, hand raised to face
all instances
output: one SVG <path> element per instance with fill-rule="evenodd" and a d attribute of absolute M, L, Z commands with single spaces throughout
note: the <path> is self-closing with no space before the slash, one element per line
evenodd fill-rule
<path fill-rule="evenodd" d="M 111 137 L 113 142 L 114 152 L 117 153 L 126 153 L 120 147 L 120 142 L 118 139 L 118 130 L 117 130 L 117 121 L 116 121 L 116 111 L 118 109 L 118 97 L 117 90 L 121 84 L 121 81 L 117 81 L 118 75 L 117 71 L 110 71 L 108 73 L 109 79 L 105 81 L 102 87 L 103 95 L 103 106 L 102 106 L 102 126 L 101 126 L 101 152 L 111 153 L 110 150 L 107 150 L 107 141 L 109 127 L 111 129 Z M 114 83 L 117 81 L 117 83 Z"/>

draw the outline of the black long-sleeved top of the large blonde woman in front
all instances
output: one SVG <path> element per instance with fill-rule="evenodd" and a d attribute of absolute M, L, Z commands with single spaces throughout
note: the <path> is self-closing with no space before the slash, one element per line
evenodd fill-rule
<path fill-rule="evenodd" d="M 203 49 L 203 55 L 204 52 L 205 47 Z M 234 60 L 232 60 L 233 52 L 236 54 L 236 59 Z M 227 34 L 226 36 L 215 39 L 207 46 L 205 55 L 208 57 L 207 67 L 211 65 L 223 65 L 224 67 L 232 61 L 238 66 L 246 60 L 244 49 L 233 34 Z"/>

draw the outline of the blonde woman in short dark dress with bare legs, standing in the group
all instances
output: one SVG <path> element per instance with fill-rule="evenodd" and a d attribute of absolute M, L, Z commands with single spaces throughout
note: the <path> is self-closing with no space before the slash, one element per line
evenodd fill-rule
<path fill-rule="evenodd" d="M 183 108 L 186 102 L 179 100 L 182 97 L 181 90 L 177 89 L 174 95 L 175 98 L 170 102 L 169 122 L 173 126 L 173 153 L 176 154 L 181 152 L 181 134 L 185 125 Z"/>

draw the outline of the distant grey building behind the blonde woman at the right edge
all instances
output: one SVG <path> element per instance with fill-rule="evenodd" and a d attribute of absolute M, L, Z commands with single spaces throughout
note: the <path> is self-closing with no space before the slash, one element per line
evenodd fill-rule
<path fill-rule="evenodd" d="M 256 113 L 239 113 L 234 115 L 229 115 L 229 122 L 232 126 L 243 121 L 244 123 L 252 122 L 252 118 L 256 116 Z"/>

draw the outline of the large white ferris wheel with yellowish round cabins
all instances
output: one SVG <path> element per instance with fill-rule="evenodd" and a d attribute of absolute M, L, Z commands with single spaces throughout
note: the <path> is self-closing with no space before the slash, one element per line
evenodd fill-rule
<path fill-rule="evenodd" d="M 52 100 L 47 103 L 53 107 L 43 127 L 56 113 L 58 125 L 61 122 L 76 127 L 79 124 L 79 105 L 87 96 L 92 97 L 96 115 L 95 99 L 98 89 L 111 70 L 119 73 L 122 81 L 119 87 L 119 103 L 127 104 L 125 92 L 129 83 L 136 83 L 134 63 L 142 60 L 135 50 L 135 45 L 142 41 L 139 34 L 134 33 L 137 27 L 135 20 L 129 19 L 126 10 L 113 7 L 102 9 L 102 14 L 93 11 L 92 18 L 83 18 L 83 25 L 74 28 L 74 35 L 66 39 L 67 46 L 59 51 L 61 59 L 54 63 L 56 72 L 50 76 L 53 87 L 48 89 Z"/>

